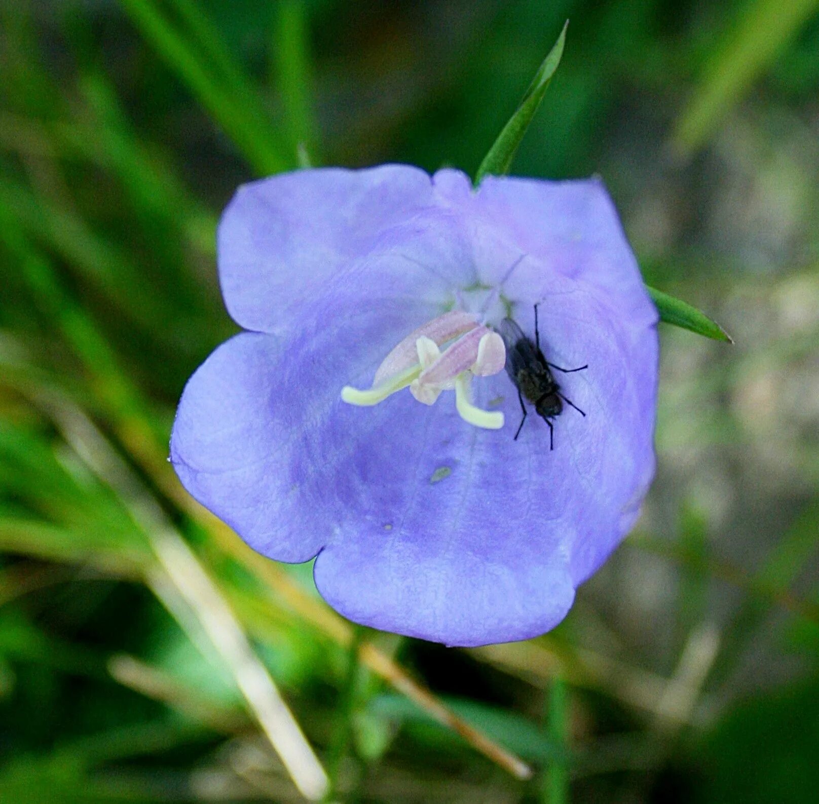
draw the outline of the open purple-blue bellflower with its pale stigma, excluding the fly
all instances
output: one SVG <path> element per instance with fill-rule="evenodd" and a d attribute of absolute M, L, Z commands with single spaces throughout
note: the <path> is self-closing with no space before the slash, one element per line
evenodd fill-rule
<path fill-rule="evenodd" d="M 603 184 L 311 169 L 219 225 L 241 332 L 186 386 L 171 460 L 252 548 L 317 556 L 333 608 L 450 645 L 527 639 L 634 524 L 654 473 L 657 311 Z M 495 332 L 563 367 L 529 404 Z"/>

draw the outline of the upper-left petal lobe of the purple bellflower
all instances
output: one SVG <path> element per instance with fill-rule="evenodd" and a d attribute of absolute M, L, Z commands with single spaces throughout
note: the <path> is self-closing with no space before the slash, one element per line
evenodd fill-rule
<path fill-rule="evenodd" d="M 395 271 L 439 289 L 474 273 L 459 222 L 441 207 L 431 178 L 408 165 L 324 168 L 240 187 L 219 224 L 219 281 L 233 320 L 279 332 L 311 298 L 338 287 L 383 285 L 373 253 L 400 256 Z"/>

